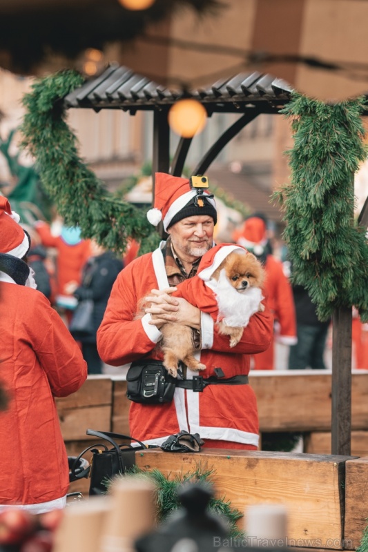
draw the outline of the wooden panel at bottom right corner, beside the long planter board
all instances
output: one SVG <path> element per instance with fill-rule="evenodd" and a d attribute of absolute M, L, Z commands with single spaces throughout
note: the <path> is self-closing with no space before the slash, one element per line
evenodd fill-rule
<path fill-rule="evenodd" d="M 368 525 L 368 456 L 346 462 L 344 538 L 351 549 L 360 544 Z"/>

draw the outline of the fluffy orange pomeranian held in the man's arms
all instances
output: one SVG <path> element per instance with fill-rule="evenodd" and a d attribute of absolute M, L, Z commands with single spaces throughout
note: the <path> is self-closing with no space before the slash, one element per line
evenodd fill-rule
<path fill-rule="evenodd" d="M 178 287 L 174 296 L 184 297 L 193 304 L 197 295 L 199 275 L 186 280 Z M 201 280 L 202 282 L 202 280 Z M 202 282 L 215 295 L 218 316 L 217 329 L 222 335 L 229 335 L 230 346 L 235 347 L 242 339 L 244 328 L 251 315 L 264 311 L 262 285 L 264 268 L 253 253 L 232 251 L 216 268 L 209 282 Z M 185 284 L 185 285 L 184 285 Z M 186 293 L 190 286 L 196 286 L 196 293 Z M 199 304 L 195 306 L 200 307 Z M 206 366 L 195 358 L 193 330 L 182 324 L 164 324 L 160 348 L 164 355 L 164 366 L 168 373 L 177 377 L 178 364 L 182 361 L 191 370 L 205 370 Z"/>

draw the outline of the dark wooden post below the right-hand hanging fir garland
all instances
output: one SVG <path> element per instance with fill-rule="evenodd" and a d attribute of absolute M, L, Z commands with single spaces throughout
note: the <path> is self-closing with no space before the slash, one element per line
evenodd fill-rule
<path fill-rule="evenodd" d="M 351 308 L 332 317 L 331 453 L 351 452 Z"/>

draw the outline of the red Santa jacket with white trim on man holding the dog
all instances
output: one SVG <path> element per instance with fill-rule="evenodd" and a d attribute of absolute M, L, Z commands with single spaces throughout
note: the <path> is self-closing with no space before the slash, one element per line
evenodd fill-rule
<path fill-rule="evenodd" d="M 111 291 L 104 319 L 97 332 L 97 348 L 104 362 L 119 366 L 144 356 L 162 358 L 156 344 L 161 332 L 148 324 L 150 315 L 135 319 L 137 304 L 153 288 L 167 288 L 168 279 L 160 248 L 138 257 L 119 273 Z M 221 367 L 225 377 L 249 373 L 249 355 L 264 351 L 270 343 L 273 318 L 264 313 L 251 317 L 243 337 L 230 348 L 229 337 L 219 335 L 211 315 L 202 313 L 204 377 Z M 188 371 L 187 377 L 196 375 Z M 173 402 L 159 405 L 130 404 L 131 435 L 146 443 L 161 444 L 168 435 L 186 430 L 206 440 L 258 445 L 258 413 L 250 385 L 207 386 L 202 393 L 175 389 Z"/>

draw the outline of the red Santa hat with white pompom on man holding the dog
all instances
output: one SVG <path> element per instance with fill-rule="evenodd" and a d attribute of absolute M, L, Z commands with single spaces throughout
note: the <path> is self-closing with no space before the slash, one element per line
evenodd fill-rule
<path fill-rule="evenodd" d="M 191 188 L 188 179 L 173 177 L 166 172 L 155 174 L 155 201 L 153 209 L 147 213 L 148 221 L 157 226 L 160 221 L 166 231 L 176 222 L 196 215 L 209 215 L 217 222 L 215 200 L 205 197 L 202 201 L 195 201 L 198 190 Z M 204 191 L 204 196 L 209 195 Z M 203 198 L 203 196 L 202 196 Z"/>

